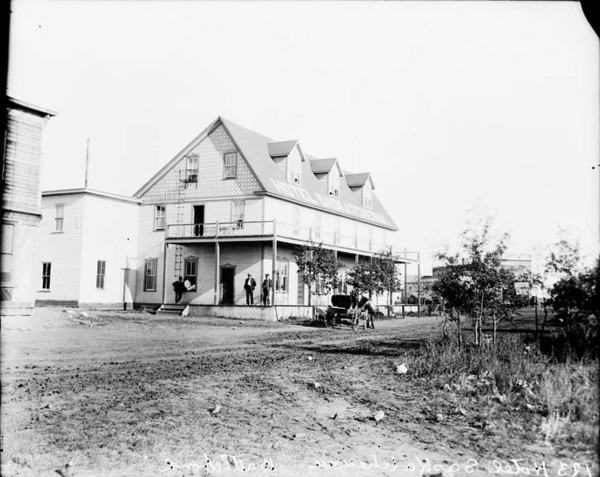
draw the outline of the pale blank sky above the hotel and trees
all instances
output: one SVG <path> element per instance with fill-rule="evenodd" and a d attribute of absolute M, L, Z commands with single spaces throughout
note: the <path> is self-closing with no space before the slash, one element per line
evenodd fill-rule
<path fill-rule="evenodd" d="M 578 2 L 16 0 L 8 93 L 57 112 L 42 190 L 131 195 L 223 116 L 371 172 L 400 247 L 474 215 L 599 250 L 599 42 Z M 593 169 L 595 167 L 595 169 Z M 483 212 L 482 212 L 483 211 Z"/>

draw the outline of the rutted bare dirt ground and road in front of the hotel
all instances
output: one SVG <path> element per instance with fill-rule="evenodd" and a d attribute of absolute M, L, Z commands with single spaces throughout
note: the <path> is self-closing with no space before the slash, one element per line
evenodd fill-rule
<path fill-rule="evenodd" d="M 87 315 L 2 318 L 3 476 L 597 475 L 592 451 L 399 374 L 439 317 Z"/>

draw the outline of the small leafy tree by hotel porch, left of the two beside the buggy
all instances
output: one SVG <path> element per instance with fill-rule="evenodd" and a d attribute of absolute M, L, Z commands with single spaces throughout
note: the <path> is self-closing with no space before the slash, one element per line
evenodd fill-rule
<path fill-rule="evenodd" d="M 338 272 L 343 267 L 336 260 L 335 252 L 323 248 L 323 244 L 303 245 L 294 254 L 302 282 L 308 286 L 308 304 L 311 295 L 327 295 L 337 288 Z"/>

